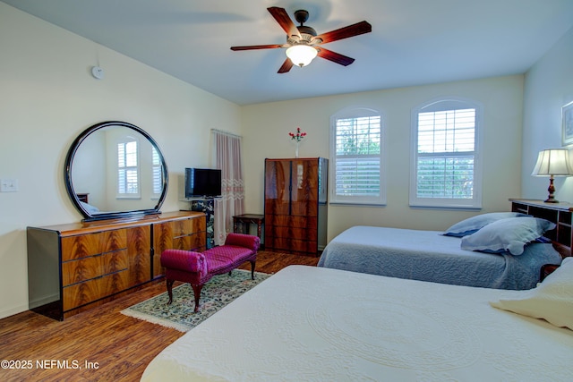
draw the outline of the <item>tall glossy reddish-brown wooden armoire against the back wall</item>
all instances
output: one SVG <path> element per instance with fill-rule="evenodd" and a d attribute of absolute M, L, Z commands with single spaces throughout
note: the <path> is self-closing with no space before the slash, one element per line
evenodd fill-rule
<path fill-rule="evenodd" d="M 328 165 L 323 157 L 265 159 L 265 250 L 324 249 Z"/>

